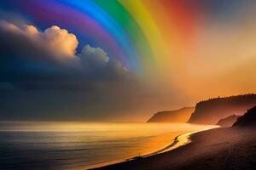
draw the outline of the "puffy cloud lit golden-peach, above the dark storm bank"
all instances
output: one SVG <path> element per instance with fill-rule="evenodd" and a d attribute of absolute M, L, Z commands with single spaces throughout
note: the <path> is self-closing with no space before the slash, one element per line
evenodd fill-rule
<path fill-rule="evenodd" d="M 58 26 L 38 31 L 35 26 L 24 25 L 20 28 L 0 20 L 0 31 L 2 42 L 4 40 L 17 53 L 33 55 L 33 58 L 42 57 L 43 54 L 45 58 L 70 59 L 75 57 L 79 44 L 75 35 Z"/>

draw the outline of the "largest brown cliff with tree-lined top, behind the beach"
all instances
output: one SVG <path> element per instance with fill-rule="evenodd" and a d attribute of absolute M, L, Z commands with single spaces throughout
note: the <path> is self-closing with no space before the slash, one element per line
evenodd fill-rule
<path fill-rule="evenodd" d="M 241 116 L 254 105 L 256 105 L 256 94 L 208 99 L 196 104 L 189 123 L 216 124 L 227 116 L 234 114 Z"/>

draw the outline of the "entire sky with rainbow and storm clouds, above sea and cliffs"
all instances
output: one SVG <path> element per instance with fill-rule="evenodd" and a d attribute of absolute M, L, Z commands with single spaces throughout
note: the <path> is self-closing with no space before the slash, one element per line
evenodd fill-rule
<path fill-rule="evenodd" d="M 146 121 L 254 93 L 254 0 L 2 0 L 0 119 Z"/>

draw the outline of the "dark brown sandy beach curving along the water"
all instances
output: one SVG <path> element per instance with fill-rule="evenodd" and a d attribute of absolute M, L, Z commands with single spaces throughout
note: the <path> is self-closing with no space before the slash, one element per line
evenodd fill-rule
<path fill-rule="evenodd" d="M 191 143 L 159 155 L 97 169 L 254 169 L 255 128 L 217 128 L 195 133 Z"/>

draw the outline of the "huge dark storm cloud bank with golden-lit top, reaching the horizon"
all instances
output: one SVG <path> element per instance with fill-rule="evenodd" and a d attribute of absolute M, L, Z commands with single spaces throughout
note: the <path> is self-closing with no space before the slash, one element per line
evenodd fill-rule
<path fill-rule="evenodd" d="M 137 108 L 137 76 L 75 35 L 0 21 L 0 120 L 99 120 Z"/>

